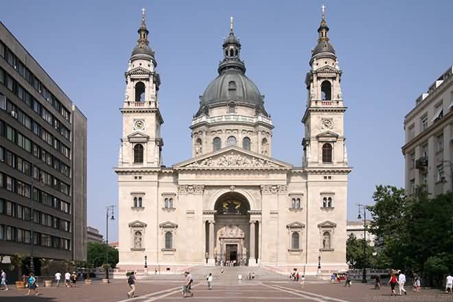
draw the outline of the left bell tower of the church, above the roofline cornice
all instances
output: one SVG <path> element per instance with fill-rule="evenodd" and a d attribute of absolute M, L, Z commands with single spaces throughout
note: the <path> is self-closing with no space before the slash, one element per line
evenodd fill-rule
<path fill-rule="evenodd" d="M 148 40 L 145 9 L 137 31 L 139 39 L 128 63 L 126 93 L 120 108 L 123 133 L 118 167 L 160 167 L 162 163 L 163 119 L 159 111 L 159 85 L 154 51 Z"/>

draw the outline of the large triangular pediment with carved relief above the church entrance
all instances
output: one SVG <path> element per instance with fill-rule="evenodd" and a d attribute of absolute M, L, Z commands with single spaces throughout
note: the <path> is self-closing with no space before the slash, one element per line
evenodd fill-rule
<path fill-rule="evenodd" d="M 290 169 L 292 165 L 237 147 L 227 147 L 203 154 L 173 166 L 174 169 Z"/>

